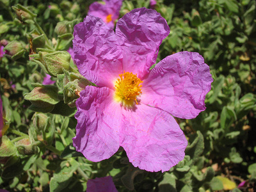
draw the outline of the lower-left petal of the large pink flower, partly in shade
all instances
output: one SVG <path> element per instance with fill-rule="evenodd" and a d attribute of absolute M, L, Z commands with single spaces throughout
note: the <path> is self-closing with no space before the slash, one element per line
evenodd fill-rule
<path fill-rule="evenodd" d="M 77 119 L 74 147 L 90 161 L 102 161 L 119 148 L 122 112 L 113 102 L 113 90 L 86 86 L 76 101 Z"/>

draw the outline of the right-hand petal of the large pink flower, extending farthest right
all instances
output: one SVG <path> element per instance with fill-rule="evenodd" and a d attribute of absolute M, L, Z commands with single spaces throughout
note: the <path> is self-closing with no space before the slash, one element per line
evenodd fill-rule
<path fill-rule="evenodd" d="M 195 118 L 205 110 L 205 95 L 213 79 L 197 52 L 178 52 L 164 58 L 143 79 L 141 102 L 179 118 Z"/>

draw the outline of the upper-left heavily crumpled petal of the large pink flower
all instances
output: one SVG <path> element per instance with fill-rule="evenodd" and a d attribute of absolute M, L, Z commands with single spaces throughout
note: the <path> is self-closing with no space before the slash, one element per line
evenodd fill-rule
<path fill-rule="evenodd" d="M 112 29 L 101 19 L 87 16 L 74 27 L 73 49 L 77 68 L 86 79 L 113 88 L 122 73 L 122 50 Z"/>

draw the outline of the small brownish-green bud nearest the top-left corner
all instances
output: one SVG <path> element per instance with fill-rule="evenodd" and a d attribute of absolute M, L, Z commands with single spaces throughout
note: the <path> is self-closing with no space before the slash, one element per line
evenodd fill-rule
<path fill-rule="evenodd" d="M 29 11 L 27 8 L 25 8 L 24 6 L 17 4 L 17 6 L 12 6 L 13 10 L 15 11 L 17 18 L 21 21 L 21 22 L 26 22 L 29 24 L 34 24 L 35 22 L 33 21 L 33 19 L 36 17 L 35 13 L 32 13 L 31 11 Z"/>

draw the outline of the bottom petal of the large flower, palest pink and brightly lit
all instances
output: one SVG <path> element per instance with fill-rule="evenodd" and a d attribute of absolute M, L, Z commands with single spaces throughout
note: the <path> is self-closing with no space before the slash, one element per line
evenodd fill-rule
<path fill-rule="evenodd" d="M 184 159 L 188 142 L 172 115 L 145 104 L 123 115 L 120 146 L 134 166 L 165 172 Z"/>

